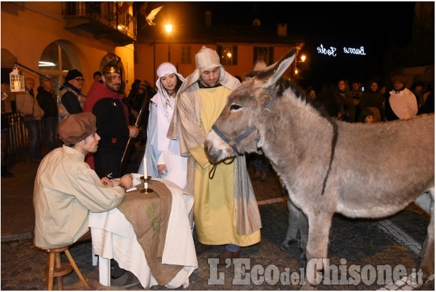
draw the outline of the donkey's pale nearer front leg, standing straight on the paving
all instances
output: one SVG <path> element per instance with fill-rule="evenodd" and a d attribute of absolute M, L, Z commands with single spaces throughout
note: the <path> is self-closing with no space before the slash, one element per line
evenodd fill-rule
<path fill-rule="evenodd" d="M 306 279 L 302 290 L 313 289 L 323 280 L 323 259 L 328 256 L 328 239 L 332 214 L 322 211 L 312 212 L 308 215 L 309 235 L 306 247 Z"/>

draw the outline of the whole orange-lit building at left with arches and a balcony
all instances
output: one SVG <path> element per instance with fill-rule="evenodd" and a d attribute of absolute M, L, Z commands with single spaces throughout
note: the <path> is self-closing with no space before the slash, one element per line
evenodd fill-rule
<path fill-rule="evenodd" d="M 106 60 L 119 56 L 128 84 L 135 78 L 133 42 L 136 19 L 122 2 L 1 2 L 1 83 L 18 62 L 63 83 L 69 69 L 82 72 L 82 93 L 89 91 L 93 73 Z M 35 79 L 43 78 L 23 69 Z"/>

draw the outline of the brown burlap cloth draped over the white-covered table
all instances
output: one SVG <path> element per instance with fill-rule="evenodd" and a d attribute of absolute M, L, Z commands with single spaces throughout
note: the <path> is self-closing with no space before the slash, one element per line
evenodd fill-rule
<path fill-rule="evenodd" d="M 144 249 L 152 275 L 159 285 L 170 282 L 183 266 L 162 264 L 163 247 L 170 219 L 172 194 L 160 181 L 149 181 L 154 192 L 144 194 L 141 183 L 137 190 L 127 192 L 124 202 L 117 208 L 133 225 L 139 244 Z"/>

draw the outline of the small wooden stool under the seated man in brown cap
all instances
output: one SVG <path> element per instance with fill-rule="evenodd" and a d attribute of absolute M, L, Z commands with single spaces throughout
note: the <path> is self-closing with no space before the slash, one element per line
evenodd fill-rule
<path fill-rule="evenodd" d="M 53 290 L 54 278 L 57 278 L 58 280 L 58 290 L 63 290 L 64 284 L 62 282 L 62 276 L 71 273 L 73 269 L 74 271 L 76 271 L 77 276 L 79 276 L 80 281 L 82 281 L 82 283 L 84 284 L 84 287 L 86 289 L 90 289 L 87 280 L 84 280 L 82 273 L 80 273 L 79 268 L 76 265 L 76 262 L 74 262 L 71 254 L 69 253 L 69 246 L 57 248 L 37 248 L 49 253 L 47 267 L 45 268 L 45 286 L 48 287 L 49 290 Z M 69 262 L 62 262 L 60 260 L 60 253 L 62 251 L 65 251 Z"/>

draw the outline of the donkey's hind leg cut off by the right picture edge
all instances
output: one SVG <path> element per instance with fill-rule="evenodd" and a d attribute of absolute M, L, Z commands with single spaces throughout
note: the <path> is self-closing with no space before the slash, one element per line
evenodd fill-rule
<path fill-rule="evenodd" d="M 427 227 L 427 236 L 422 245 L 420 253 L 422 278 L 425 280 L 432 273 L 435 273 L 435 188 L 430 190 L 431 205 L 430 205 L 430 224 Z"/>

